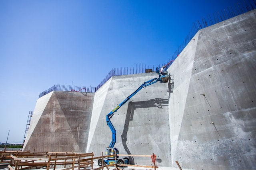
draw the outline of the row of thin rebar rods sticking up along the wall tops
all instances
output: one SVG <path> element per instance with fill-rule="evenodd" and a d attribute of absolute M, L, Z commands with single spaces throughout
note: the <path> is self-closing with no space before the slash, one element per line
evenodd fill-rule
<path fill-rule="evenodd" d="M 214 25 L 216 23 L 219 23 L 223 20 L 228 20 L 232 17 L 238 16 L 242 13 L 248 12 L 250 10 L 254 10 L 256 8 L 256 2 L 255 0 L 248 0 L 248 1 L 240 1 L 240 4 L 237 2 L 234 5 L 234 8 L 230 6 L 230 8 L 227 8 L 227 10 L 224 9 L 224 12 L 220 10 L 220 12 L 215 12 L 215 14 L 212 14 L 212 18 L 209 14 L 209 17 L 207 16 L 207 20 L 202 17 L 202 23 L 200 23 L 199 20 L 194 22 L 194 25 L 190 28 L 190 31 L 188 35 L 185 36 L 185 39 L 183 43 L 178 47 L 178 49 L 174 52 L 174 54 L 170 57 L 170 61 L 174 61 L 178 55 L 183 51 L 183 49 L 188 45 L 190 40 L 196 35 L 196 33 L 205 27 Z M 150 65 L 146 66 L 144 63 L 137 63 L 134 64 L 134 67 L 121 67 L 121 68 L 113 68 L 108 72 L 106 77 L 98 84 L 96 87 L 85 87 L 85 86 L 67 86 L 67 85 L 54 85 L 48 90 L 45 90 L 44 92 L 40 93 L 39 98 L 52 92 L 52 91 L 76 91 L 76 92 L 89 92 L 89 93 L 95 93 L 103 84 L 105 84 L 112 76 L 122 76 L 122 75 L 129 75 L 129 74 L 141 74 L 145 73 L 146 69 L 152 69 L 152 71 L 156 71 L 156 67 L 161 67 L 162 65 L 166 64 L 158 64 L 158 65 Z M 166 66 L 166 69 L 170 65 Z"/>

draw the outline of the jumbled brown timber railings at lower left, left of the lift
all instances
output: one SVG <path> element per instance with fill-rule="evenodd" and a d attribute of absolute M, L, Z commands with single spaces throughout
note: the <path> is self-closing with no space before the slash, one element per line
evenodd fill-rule
<path fill-rule="evenodd" d="M 36 167 L 46 167 L 56 169 L 57 166 L 64 166 L 64 170 L 74 170 L 75 168 L 86 169 L 93 168 L 93 160 L 95 159 L 92 153 L 74 153 L 74 152 L 43 152 L 43 153 L 29 153 L 29 152 L 0 152 L 0 164 L 9 163 L 10 170 L 32 169 Z M 68 167 L 66 167 L 68 166 Z"/>

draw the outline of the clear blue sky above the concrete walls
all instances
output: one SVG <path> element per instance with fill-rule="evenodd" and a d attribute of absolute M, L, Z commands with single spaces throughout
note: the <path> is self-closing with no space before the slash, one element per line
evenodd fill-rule
<path fill-rule="evenodd" d="M 196 20 L 234 0 L 0 0 L 0 142 L 22 142 L 54 84 L 97 86 L 112 68 L 168 62 Z"/>

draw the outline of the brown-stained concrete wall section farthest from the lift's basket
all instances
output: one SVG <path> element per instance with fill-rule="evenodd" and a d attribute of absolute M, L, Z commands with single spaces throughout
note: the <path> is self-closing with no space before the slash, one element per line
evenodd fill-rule
<path fill-rule="evenodd" d="M 23 150 L 85 152 L 94 93 L 51 92 L 36 102 Z"/>

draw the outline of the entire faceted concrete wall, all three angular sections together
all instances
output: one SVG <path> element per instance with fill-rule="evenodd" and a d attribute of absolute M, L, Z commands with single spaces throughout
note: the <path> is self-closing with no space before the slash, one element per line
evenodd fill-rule
<path fill-rule="evenodd" d="M 256 169 L 255 13 L 198 31 L 168 68 L 168 83 L 140 90 L 114 114 L 120 154 L 154 153 L 160 168 Z M 112 137 L 106 115 L 157 76 L 113 76 L 96 93 L 39 98 L 23 150 L 101 156 Z"/>

